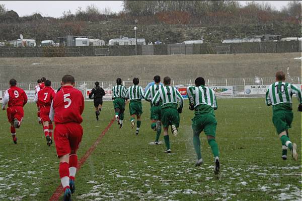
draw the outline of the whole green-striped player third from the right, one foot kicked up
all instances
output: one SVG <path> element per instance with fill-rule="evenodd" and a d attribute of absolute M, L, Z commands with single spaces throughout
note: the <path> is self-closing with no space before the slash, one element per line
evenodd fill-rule
<path fill-rule="evenodd" d="M 178 135 L 177 128 L 179 127 L 179 114 L 182 112 L 184 99 L 179 91 L 170 86 L 171 78 L 164 78 L 164 85 L 155 93 L 152 100 L 153 105 L 158 105 L 162 102 L 162 123 L 164 126 L 164 140 L 166 144 L 165 153 L 171 153 L 170 139 L 168 135 L 168 128 L 171 125 L 174 136 Z M 177 109 L 179 102 L 179 108 Z"/>

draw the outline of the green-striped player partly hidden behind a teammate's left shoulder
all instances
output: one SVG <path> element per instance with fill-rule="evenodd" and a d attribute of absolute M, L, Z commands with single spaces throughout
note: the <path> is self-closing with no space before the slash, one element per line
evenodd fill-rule
<path fill-rule="evenodd" d="M 155 96 L 155 93 L 160 89 L 161 87 L 161 77 L 155 76 L 153 78 L 154 85 L 149 87 L 147 91 L 145 92 L 145 100 L 146 101 L 152 101 L 153 97 Z M 162 115 L 162 107 L 161 105 L 153 105 L 151 104 L 150 108 L 150 119 L 151 119 L 151 128 L 156 131 L 156 139 L 154 144 L 159 145 L 159 139 L 162 132 L 162 122 L 161 122 L 161 115 Z"/>

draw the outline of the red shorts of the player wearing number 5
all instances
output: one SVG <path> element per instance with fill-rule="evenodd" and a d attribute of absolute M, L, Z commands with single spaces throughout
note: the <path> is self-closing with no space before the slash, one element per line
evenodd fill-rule
<path fill-rule="evenodd" d="M 54 142 L 57 156 L 70 154 L 71 150 L 76 152 L 82 141 L 83 128 L 79 123 L 57 123 L 54 128 Z"/>

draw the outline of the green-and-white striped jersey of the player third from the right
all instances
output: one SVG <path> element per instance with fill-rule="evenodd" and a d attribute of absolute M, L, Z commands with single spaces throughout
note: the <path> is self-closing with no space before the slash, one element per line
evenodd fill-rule
<path fill-rule="evenodd" d="M 155 96 L 152 100 L 152 104 L 156 105 L 162 100 L 162 106 L 168 103 L 177 103 L 179 102 L 179 107 L 182 108 L 184 104 L 184 98 L 181 96 L 179 91 L 171 86 L 161 86 L 160 89 L 155 93 Z"/>

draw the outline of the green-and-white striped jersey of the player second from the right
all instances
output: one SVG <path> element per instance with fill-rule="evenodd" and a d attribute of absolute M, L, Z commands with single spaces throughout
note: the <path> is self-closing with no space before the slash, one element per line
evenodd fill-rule
<path fill-rule="evenodd" d="M 217 109 L 217 101 L 215 93 L 212 89 L 205 86 L 190 86 L 187 88 L 187 95 L 190 105 L 194 104 L 194 108 L 198 105 L 209 105 Z"/>

